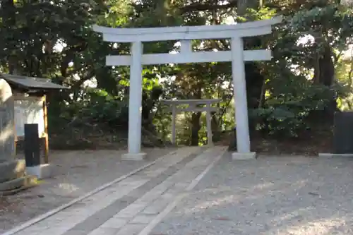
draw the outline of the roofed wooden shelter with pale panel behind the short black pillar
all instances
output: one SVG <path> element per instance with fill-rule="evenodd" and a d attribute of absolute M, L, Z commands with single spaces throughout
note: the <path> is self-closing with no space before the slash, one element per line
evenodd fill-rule
<path fill-rule="evenodd" d="M 24 140 L 24 125 L 37 123 L 40 139 L 44 142 L 44 162 L 49 162 L 49 140 L 47 121 L 47 93 L 53 90 L 68 89 L 63 85 L 52 83 L 46 78 L 32 78 L 11 74 L 0 74 L 11 86 L 15 99 L 15 146 Z"/>

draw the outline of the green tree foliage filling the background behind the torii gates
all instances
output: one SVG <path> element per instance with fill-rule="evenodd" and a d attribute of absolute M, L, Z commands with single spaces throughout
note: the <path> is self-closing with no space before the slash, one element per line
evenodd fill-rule
<path fill-rule="evenodd" d="M 225 3 L 226 2 L 226 3 Z M 255 1 L 252 1 L 254 3 Z M 250 4 L 250 1 L 247 1 Z M 52 78 L 71 87 L 49 95 L 49 128 L 117 133 L 128 127 L 129 68 L 105 66 L 108 54 L 128 54 L 128 44 L 102 42 L 91 25 L 113 28 L 216 25 L 229 19 L 261 20 L 279 11 L 285 20 L 272 35 L 246 39 L 246 49 L 273 49 L 273 60 L 246 66 L 249 116 L 252 126 L 265 135 L 300 137 L 311 128 L 311 114 L 322 111 L 337 96 L 340 109 L 353 107 L 352 63 L 340 59 L 352 42 L 352 8 L 336 1 L 270 0 L 261 8 L 248 8 L 239 17 L 233 1 L 211 0 L 108 0 L 108 1 L 2 1 L 0 8 L 1 71 Z M 299 38 L 313 40 L 299 44 Z M 145 53 L 179 49 L 175 42 L 144 44 Z M 57 49 L 61 44 L 61 49 Z M 229 49 L 228 40 L 193 40 L 193 49 Z M 313 74 L 333 64 L 337 82 L 330 86 L 314 81 Z M 330 61 L 330 57 L 332 60 Z M 11 62 L 12 58 L 12 62 Z M 143 127 L 169 140 L 171 116 L 159 98 L 220 98 L 213 115 L 215 133 L 234 128 L 230 63 L 145 66 L 143 68 Z M 95 83 L 88 87 L 86 83 Z M 206 143 L 205 116 L 192 121 L 180 116 L 179 143 Z M 199 135 L 192 130 L 197 129 Z"/>

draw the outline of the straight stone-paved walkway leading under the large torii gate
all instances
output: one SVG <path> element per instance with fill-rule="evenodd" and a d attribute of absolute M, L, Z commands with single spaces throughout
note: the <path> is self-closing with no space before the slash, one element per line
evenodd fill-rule
<path fill-rule="evenodd" d="M 224 152 L 183 148 L 16 235 L 148 235 Z"/>

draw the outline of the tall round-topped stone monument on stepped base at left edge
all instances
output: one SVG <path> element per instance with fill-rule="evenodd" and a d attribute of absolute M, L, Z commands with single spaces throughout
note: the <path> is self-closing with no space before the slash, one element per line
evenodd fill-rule
<path fill-rule="evenodd" d="M 17 193 L 35 185 L 25 176 L 25 161 L 16 159 L 15 102 L 10 85 L 0 79 L 0 195 Z"/>

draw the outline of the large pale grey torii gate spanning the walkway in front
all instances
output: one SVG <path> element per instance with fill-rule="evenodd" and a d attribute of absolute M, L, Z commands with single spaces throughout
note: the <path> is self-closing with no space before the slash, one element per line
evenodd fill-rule
<path fill-rule="evenodd" d="M 131 42 L 131 55 L 107 56 L 107 66 L 130 66 L 130 97 L 128 102 L 128 153 L 123 159 L 143 159 L 141 147 L 142 66 L 148 64 L 184 64 L 232 61 L 235 119 L 237 122 L 237 152 L 234 159 L 253 158 L 250 151 L 248 107 L 244 61 L 268 61 L 270 50 L 246 50 L 242 37 L 268 35 L 272 25 L 282 18 L 259 20 L 236 25 L 203 25 L 166 28 L 107 28 L 94 25 L 106 42 Z M 222 52 L 192 52 L 191 40 L 230 39 L 231 50 Z M 143 42 L 180 40 L 177 54 L 143 54 Z"/>

